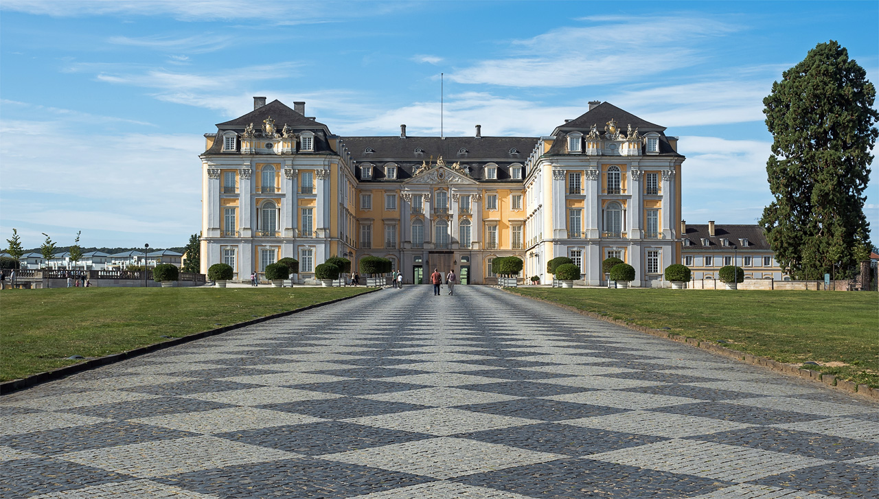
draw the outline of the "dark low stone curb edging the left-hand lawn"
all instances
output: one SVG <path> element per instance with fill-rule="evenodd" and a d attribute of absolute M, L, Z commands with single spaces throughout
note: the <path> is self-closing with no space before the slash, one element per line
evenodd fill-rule
<path fill-rule="evenodd" d="M 241 329 L 247 326 L 252 326 L 254 324 L 258 324 L 260 322 L 271 321 L 272 319 L 278 319 L 280 317 L 286 317 L 287 315 L 299 314 L 300 312 L 305 312 L 306 310 L 311 310 L 312 308 L 323 307 L 325 305 L 331 305 L 333 303 L 338 303 L 339 301 L 351 300 L 352 298 L 357 298 L 358 296 L 363 296 L 369 293 L 376 293 L 384 289 L 383 287 L 375 288 L 373 290 L 367 291 L 366 293 L 355 294 L 353 296 L 346 296 L 345 298 L 337 298 L 336 300 L 323 301 L 322 303 L 316 303 L 314 305 L 309 305 L 308 307 L 296 308 L 295 310 L 288 310 L 287 312 L 280 312 L 278 314 L 265 315 L 265 317 L 258 317 L 257 319 L 251 319 L 250 321 L 238 322 L 236 324 L 230 324 L 229 326 L 223 326 L 222 328 L 216 329 L 208 329 L 207 331 L 201 331 L 200 333 L 193 333 L 189 336 L 182 336 L 179 338 L 172 338 L 166 342 L 158 343 L 158 344 L 149 344 L 147 346 L 142 346 L 140 348 L 135 348 L 130 351 L 123 351 L 121 353 L 113 353 L 111 355 L 105 355 L 104 357 L 91 358 L 86 360 L 85 362 L 80 362 L 79 364 L 74 365 L 65 365 L 63 367 L 59 367 L 57 369 L 53 369 L 52 371 L 47 372 L 39 372 L 37 374 L 33 374 L 26 378 L 22 378 L 20 380 L 11 380 L 4 381 L 0 383 L 0 396 L 11 394 L 13 392 L 17 392 L 18 390 L 22 390 L 25 388 L 35 387 L 37 385 L 41 385 L 43 383 L 47 383 L 48 381 L 61 380 L 62 378 L 66 378 L 71 374 L 76 374 L 76 372 L 88 371 L 90 369 L 94 369 L 96 367 L 100 367 L 101 365 L 115 364 L 127 358 L 140 357 L 145 353 L 150 353 L 153 351 L 159 351 L 166 349 L 171 346 L 176 346 L 178 344 L 189 343 L 194 340 L 199 340 L 201 338 L 207 338 L 208 336 L 215 336 L 227 331 L 231 331 L 234 329 Z"/>

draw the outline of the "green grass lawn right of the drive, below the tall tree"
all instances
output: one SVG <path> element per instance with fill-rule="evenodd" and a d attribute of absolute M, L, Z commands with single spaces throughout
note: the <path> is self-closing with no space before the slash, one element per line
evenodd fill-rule
<path fill-rule="evenodd" d="M 518 288 L 599 315 L 879 387 L 879 295 L 815 291 Z"/>

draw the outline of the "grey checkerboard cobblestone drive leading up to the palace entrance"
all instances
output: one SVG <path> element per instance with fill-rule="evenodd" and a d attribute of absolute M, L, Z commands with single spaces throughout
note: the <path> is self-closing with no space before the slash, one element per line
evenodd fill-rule
<path fill-rule="evenodd" d="M 879 406 L 484 286 L 0 399 L 0 496 L 876 497 Z"/>

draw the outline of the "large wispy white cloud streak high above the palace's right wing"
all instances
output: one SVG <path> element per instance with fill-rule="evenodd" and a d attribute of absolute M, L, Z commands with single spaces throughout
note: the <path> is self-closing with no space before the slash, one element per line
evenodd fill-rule
<path fill-rule="evenodd" d="M 584 18 L 588 26 L 563 27 L 513 40 L 510 56 L 477 62 L 450 77 L 458 83 L 513 87 L 576 87 L 630 82 L 700 61 L 701 45 L 737 28 L 692 15 Z"/>

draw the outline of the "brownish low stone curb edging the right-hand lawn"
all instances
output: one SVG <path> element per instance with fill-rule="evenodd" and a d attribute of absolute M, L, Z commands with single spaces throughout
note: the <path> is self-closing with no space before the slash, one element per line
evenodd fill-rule
<path fill-rule="evenodd" d="M 686 336 L 680 336 L 676 334 L 672 334 L 664 329 L 653 329 L 647 328 L 644 326 L 639 326 L 637 324 L 633 324 L 631 322 L 619 321 L 617 319 L 611 319 L 610 317 L 605 317 L 604 315 L 598 315 L 594 312 L 588 312 L 586 310 L 581 310 L 577 307 L 571 307 L 570 305 L 563 305 L 561 303 L 556 303 L 552 300 L 544 300 L 542 298 L 535 298 L 534 296 L 527 296 L 524 294 L 515 293 L 513 291 L 508 291 L 504 288 L 501 288 L 506 293 L 515 294 L 516 296 L 521 296 L 522 298 L 527 298 L 529 300 L 542 301 L 544 303 L 548 303 L 550 305 L 555 305 L 556 307 L 561 307 L 566 310 L 570 310 L 571 312 L 576 312 L 579 315 L 585 315 L 587 317 L 592 317 L 592 319 L 599 319 L 599 321 L 611 322 L 613 324 L 617 324 L 619 326 L 624 326 L 628 329 L 635 329 L 636 331 L 640 331 L 642 333 L 647 333 L 652 336 L 659 336 L 662 338 L 670 339 L 679 343 L 686 343 L 693 345 L 696 348 L 700 348 L 702 350 L 712 351 L 716 354 L 723 355 L 723 357 L 735 358 L 736 360 L 740 360 L 747 364 L 753 365 L 761 365 L 772 371 L 783 372 L 785 374 L 789 374 L 791 376 L 799 376 L 800 378 L 805 378 L 808 380 L 815 380 L 821 383 L 824 383 L 828 387 L 838 388 L 840 390 L 844 390 L 846 392 L 850 392 L 852 394 L 858 394 L 864 397 L 868 397 L 873 399 L 874 401 L 879 401 L 879 388 L 871 388 L 867 385 L 858 385 L 852 381 L 846 380 L 837 380 L 836 376 L 833 374 L 822 374 L 818 371 L 812 371 L 810 369 L 803 369 L 797 367 L 795 365 L 784 364 L 782 362 L 778 362 L 771 358 L 758 357 L 751 353 L 745 353 L 744 351 L 737 351 L 726 348 L 722 344 L 717 344 L 715 342 L 709 341 L 699 341 L 696 338 L 689 338 Z"/>

